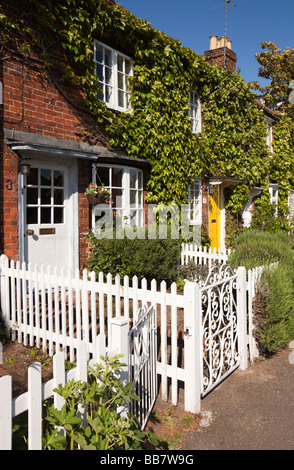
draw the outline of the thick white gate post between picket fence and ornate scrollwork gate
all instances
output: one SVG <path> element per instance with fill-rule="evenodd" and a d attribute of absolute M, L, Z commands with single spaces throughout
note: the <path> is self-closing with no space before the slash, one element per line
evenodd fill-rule
<path fill-rule="evenodd" d="M 184 297 L 185 411 L 197 414 L 201 411 L 203 347 L 201 292 L 198 284 L 187 282 Z"/>

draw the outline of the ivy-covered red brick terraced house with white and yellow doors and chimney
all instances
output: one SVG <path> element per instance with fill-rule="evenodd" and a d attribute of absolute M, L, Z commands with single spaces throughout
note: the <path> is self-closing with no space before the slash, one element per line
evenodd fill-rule
<path fill-rule="evenodd" d="M 111 0 L 3 1 L 1 251 L 83 267 L 90 183 L 135 226 L 148 203 L 189 204 L 191 226 L 224 249 L 227 207 L 248 225 L 269 188 L 265 116 L 278 119 L 224 40 L 198 55 Z"/>

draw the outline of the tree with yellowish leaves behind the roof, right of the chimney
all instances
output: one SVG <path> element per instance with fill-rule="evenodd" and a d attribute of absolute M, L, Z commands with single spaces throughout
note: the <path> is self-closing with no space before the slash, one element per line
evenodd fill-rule
<path fill-rule="evenodd" d="M 294 49 L 279 49 L 274 42 L 262 42 L 263 52 L 255 54 L 260 65 L 258 75 L 270 80 L 270 84 L 262 87 L 253 82 L 252 87 L 264 95 L 265 104 L 273 107 L 279 114 L 286 114 L 294 119 L 294 105 L 289 103 L 294 80 Z"/>

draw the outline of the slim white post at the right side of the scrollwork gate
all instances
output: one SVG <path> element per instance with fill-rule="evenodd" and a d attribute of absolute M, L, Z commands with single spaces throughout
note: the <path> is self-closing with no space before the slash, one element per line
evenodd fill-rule
<path fill-rule="evenodd" d="M 248 367 L 247 354 L 247 312 L 246 312 L 246 269 L 237 270 L 237 325 L 238 325 L 238 352 L 240 354 L 240 369 Z"/>

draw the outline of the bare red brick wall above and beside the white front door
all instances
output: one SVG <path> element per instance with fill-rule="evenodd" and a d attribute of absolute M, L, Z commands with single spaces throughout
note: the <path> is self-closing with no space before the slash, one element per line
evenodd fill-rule
<path fill-rule="evenodd" d="M 50 80 L 41 79 L 37 71 L 10 60 L 3 61 L 0 74 L 4 96 L 0 111 L 4 128 L 69 141 L 81 140 L 79 134 L 84 132 L 84 123 L 90 121 L 89 115 L 69 104 Z M 81 96 L 77 91 L 70 89 L 66 93 L 70 100 L 79 103 Z M 1 251 L 17 260 L 18 157 L 3 143 L 1 153 Z M 79 162 L 78 168 L 80 264 L 83 266 L 86 249 L 84 235 L 89 231 L 89 205 L 83 194 L 89 183 L 88 162 Z"/>

